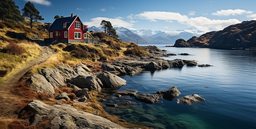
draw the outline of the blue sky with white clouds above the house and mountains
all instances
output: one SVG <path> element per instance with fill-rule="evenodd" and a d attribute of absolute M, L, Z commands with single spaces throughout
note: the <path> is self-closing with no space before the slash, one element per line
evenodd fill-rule
<path fill-rule="evenodd" d="M 102 20 L 113 27 L 175 31 L 193 28 L 218 31 L 231 24 L 256 20 L 256 0 L 14 0 L 20 10 L 32 2 L 45 20 L 79 15 L 88 27 Z M 21 11 L 22 12 L 22 11 Z"/>

